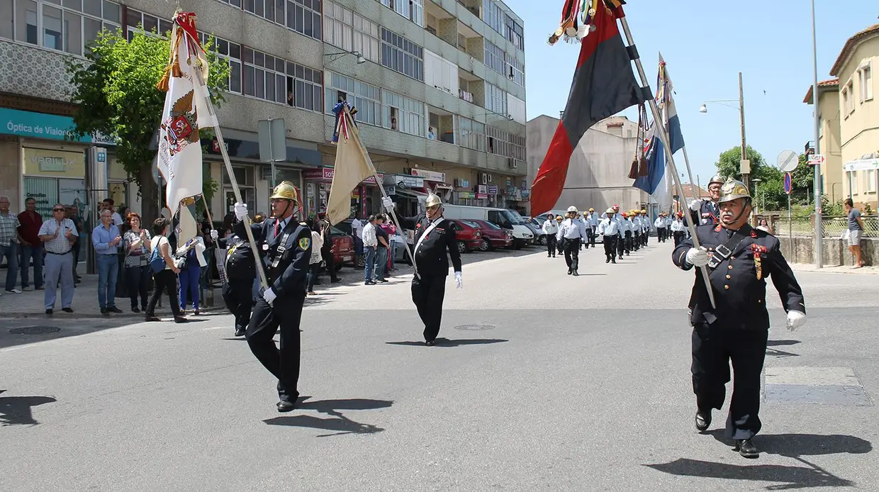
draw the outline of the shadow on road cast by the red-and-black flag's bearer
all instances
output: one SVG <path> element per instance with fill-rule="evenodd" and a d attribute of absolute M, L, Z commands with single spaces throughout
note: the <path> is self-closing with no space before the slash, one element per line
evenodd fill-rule
<path fill-rule="evenodd" d="M 730 445 L 723 438 L 723 430 L 711 431 L 711 435 Z M 822 467 L 803 459 L 803 456 L 824 454 L 864 454 L 873 451 L 873 445 L 866 439 L 832 434 L 769 434 L 755 439 L 762 452 L 778 454 L 795 459 L 806 467 L 786 467 L 781 465 L 730 465 L 696 459 L 675 459 L 670 463 L 644 465 L 666 474 L 722 478 L 730 480 L 771 481 L 776 485 L 767 490 L 791 490 L 813 487 L 855 487 L 854 481 L 836 476 Z M 730 445 L 731 447 L 731 445 Z"/>

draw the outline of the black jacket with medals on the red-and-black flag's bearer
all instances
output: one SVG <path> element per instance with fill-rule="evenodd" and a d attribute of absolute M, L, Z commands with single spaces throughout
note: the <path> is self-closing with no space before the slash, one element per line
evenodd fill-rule
<path fill-rule="evenodd" d="M 701 246 L 708 250 L 709 256 L 716 255 L 720 245 L 726 245 L 731 253 L 716 267 L 707 267 L 717 308 L 711 308 L 701 269 L 696 269 L 693 293 L 690 295 L 690 322 L 707 322 L 732 329 L 768 329 L 766 277 L 772 279 L 785 311 L 805 313 L 803 289 L 796 282 L 787 260 L 781 256 L 778 239 L 748 225 L 740 229 L 736 239 L 730 241 L 732 234 L 732 231 L 719 224 L 696 227 L 696 237 Z M 690 248 L 693 248 L 692 238 L 680 242 L 672 253 L 672 262 L 683 270 L 693 268 L 692 264 L 686 262 L 686 251 Z"/>

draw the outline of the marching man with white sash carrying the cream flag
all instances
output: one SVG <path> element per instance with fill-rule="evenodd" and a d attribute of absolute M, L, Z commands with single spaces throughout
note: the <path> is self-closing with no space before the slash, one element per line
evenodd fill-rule
<path fill-rule="evenodd" d="M 396 204 L 385 197 L 381 204 L 392 211 Z M 442 200 L 433 193 L 425 200 L 426 213 L 415 217 L 397 217 L 400 226 L 415 230 L 415 276 L 412 277 L 412 302 L 425 323 L 425 345 L 432 347 L 439 335 L 442 301 L 446 295 L 448 258 L 452 258 L 454 281 L 461 288 L 461 253 L 454 239 L 458 224 L 442 216 Z"/>

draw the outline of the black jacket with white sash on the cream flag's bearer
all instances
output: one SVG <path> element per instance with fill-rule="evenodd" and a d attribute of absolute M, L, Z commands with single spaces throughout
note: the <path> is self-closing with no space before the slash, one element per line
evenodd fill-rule
<path fill-rule="evenodd" d="M 421 236 L 431 225 L 431 221 L 424 213 L 415 217 L 399 217 L 399 220 L 403 228 L 415 229 L 413 248 L 418 245 Z M 439 219 L 437 220 L 439 221 Z M 418 275 L 447 277 L 449 257 L 452 257 L 454 271 L 461 271 L 461 253 L 458 251 L 458 242 L 454 237 L 458 228 L 456 222 L 442 219 L 437 227 L 427 234 L 425 240 L 421 242 L 421 246 L 418 246 L 418 251 L 412 251 L 412 254 L 415 255 L 415 264 L 418 267 Z"/>

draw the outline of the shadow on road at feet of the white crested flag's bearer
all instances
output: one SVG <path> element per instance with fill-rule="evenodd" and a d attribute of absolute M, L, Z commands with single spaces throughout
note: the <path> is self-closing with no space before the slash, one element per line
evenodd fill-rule
<path fill-rule="evenodd" d="M 302 400 L 307 400 L 305 396 Z M 307 427 L 310 429 L 323 429 L 334 431 L 331 434 L 321 434 L 318 438 L 340 436 L 344 434 L 375 434 L 384 431 L 381 427 L 370 423 L 355 422 L 342 414 L 340 410 L 374 410 L 387 409 L 394 402 L 389 400 L 369 400 L 364 398 L 352 398 L 348 400 L 319 400 L 316 402 L 301 402 L 298 409 L 316 410 L 319 413 L 331 416 L 322 418 L 319 416 L 276 416 L 265 419 L 263 422 L 269 425 L 285 425 L 290 427 Z"/>

